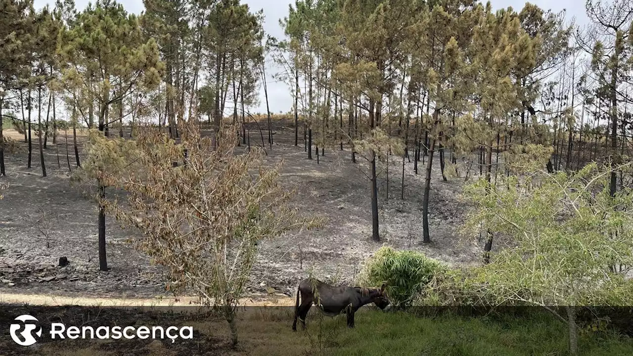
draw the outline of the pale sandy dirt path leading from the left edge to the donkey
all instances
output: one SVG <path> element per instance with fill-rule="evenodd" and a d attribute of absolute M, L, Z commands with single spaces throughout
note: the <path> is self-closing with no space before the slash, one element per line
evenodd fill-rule
<path fill-rule="evenodd" d="M 294 299 L 288 296 L 251 296 L 242 298 L 242 307 L 290 307 Z M 0 303 L 28 304 L 38 306 L 77 305 L 80 307 L 188 307 L 196 306 L 196 298 L 185 296 L 175 298 L 89 298 L 73 296 L 51 296 L 39 294 L 0 294 Z"/>

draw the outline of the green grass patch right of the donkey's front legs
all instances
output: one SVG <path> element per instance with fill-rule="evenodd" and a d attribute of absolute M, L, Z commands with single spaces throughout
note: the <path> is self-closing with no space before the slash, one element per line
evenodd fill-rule
<path fill-rule="evenodd" d="M 568 355 L 567 326 L 546 313 L 532 317 L 433 319 L 406 312 L 359 312 L 354 329 L 344 317 L 324 318 L 322 346 L 329 355 Z M 308 331 L 318 333 L 312 319 Z M 615 333 L 579 336 L 580 355 L 633 355 L 633 340 Z"/>

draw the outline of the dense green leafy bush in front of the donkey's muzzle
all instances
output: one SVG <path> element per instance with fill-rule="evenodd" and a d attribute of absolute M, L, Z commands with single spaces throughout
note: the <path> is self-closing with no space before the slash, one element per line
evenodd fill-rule
<path fill-rule="evenodd" d="M 448 270 L 446 265 L 417 251 L 396 251 L 389 246 L 368 258 L 360 274 L 363 285 L 387 283 L 387 296 L 396 307 L 411 305 L 437 274 Z"/>

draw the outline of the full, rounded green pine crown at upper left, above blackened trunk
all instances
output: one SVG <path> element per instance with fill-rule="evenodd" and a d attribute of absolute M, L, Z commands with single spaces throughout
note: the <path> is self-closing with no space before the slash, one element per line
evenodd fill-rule
<path fill-rule="evenodd" d="M 111 104 L 155 89 L 165 72 L 158 44 L 144 37 L 137 16 L 110 0 L 89 5 L 61 31 L 58 59 L 62 77 L 56 85 L 82 112 L 97 105 L 101 129 Z"/>

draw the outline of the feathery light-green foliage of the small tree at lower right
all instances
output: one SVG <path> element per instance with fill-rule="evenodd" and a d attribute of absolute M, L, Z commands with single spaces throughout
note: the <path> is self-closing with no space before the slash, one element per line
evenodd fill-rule
<path fill-rule="evenodd" d="M 630 305 L 630 284 L 611 266 L 633 264 L 633 194 L 623 188 L 609 196 L 610 169 L 592 163 L 573 174 L 466 186 L 473 208 L 463 232 L 492 231 L 513 244 L 473 269 L 470 283 L 500 304 Z"/>

